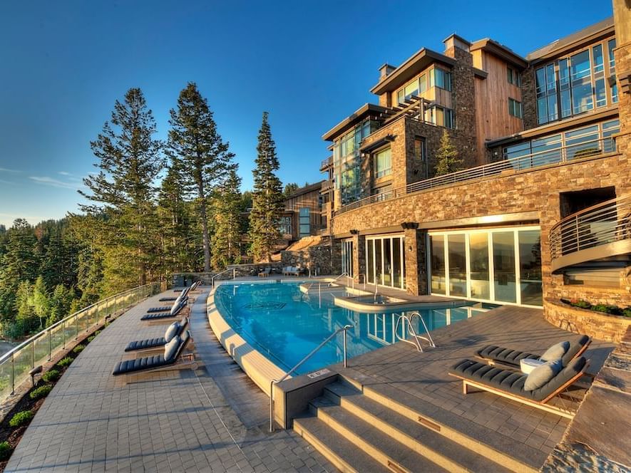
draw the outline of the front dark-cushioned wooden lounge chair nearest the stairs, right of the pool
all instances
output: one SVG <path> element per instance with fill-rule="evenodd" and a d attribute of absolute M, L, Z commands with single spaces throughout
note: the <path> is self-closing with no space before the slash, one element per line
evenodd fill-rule
<path fill-rule="evenodd" d="M 465 395 L 468 394 L 469 387 L 478 388 L 571 419 L 574 412 L 548 402 L 581 378 L 588 365 L 588 360 L 582 356 L 575 358 L 545 384 L 533 390 L 524 389 L 529 375 L 473 360 L 459 361 L 449 370 L 449 374 L 462 380 Z"/>

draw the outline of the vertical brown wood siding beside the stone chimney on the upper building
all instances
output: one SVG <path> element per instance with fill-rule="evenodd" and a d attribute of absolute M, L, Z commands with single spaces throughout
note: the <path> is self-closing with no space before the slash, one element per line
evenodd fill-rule
<path fill-rule="evenodd" d="M 484 140 L 523 130 L 523 120 L 508 114 L 508 98 L 521 100 L 521 90 L 508 83 L 505 61 L 479 49 L 473 51 L 473 66 L 488 73 L 476 78 L 476 135 L 478 164 L 486 163 Z"/>

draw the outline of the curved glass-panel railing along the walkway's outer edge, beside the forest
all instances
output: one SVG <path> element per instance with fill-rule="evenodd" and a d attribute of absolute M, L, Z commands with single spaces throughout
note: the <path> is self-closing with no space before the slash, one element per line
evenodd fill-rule
<path fill-rule="evenodd" d="M 98 326 L 106 316 L 160 292 L 160 283 L 138 286 L 82 308 L 20 343 L 0 357 L 0 402 L 30 378 L 29 371 L 50 361 L 79 334 Z"/>

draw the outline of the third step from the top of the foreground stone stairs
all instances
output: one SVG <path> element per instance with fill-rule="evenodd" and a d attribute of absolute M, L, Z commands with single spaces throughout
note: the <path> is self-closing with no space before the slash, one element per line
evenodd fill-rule
<path fill-rule="evenodd" d="M 317 417 L 344 438 L 350 440 L 356 449 L 361 449 L 394 472 L 446 472 L 426 457 L 414 452 L 405 445 L 374 428 L 369 422 L 334 404 L 326 397 L 313 400 Z"/>

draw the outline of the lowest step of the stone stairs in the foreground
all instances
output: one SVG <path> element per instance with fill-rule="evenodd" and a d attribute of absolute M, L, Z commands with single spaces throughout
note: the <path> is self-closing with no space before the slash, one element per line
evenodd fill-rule
<path fill-rule="evenodd" d="M 294 432 L 343 473 L 392 473 L 317 417 L 294 419 Z"/>

